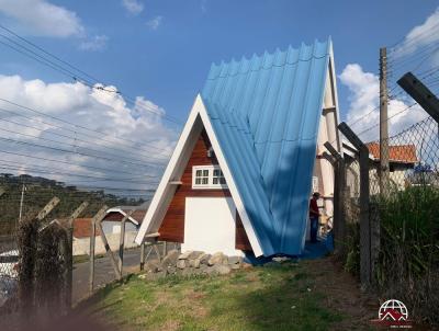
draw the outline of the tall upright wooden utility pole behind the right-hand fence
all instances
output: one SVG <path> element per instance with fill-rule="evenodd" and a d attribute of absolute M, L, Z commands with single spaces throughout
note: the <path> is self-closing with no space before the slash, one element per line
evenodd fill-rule
<path fill-rule="evenodd" d="M 380 48 L 380 193 L 389 193 L 387 49 Z"/>

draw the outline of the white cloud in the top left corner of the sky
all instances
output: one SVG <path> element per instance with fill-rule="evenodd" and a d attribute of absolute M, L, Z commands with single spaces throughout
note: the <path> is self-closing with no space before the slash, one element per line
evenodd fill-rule
<path fill-rule="evenodd" d="M 15 20 L 26 34 L 68 37 L 85 31 L 74 11 L 45 0 L 0 0 L 0 13 Z"/>

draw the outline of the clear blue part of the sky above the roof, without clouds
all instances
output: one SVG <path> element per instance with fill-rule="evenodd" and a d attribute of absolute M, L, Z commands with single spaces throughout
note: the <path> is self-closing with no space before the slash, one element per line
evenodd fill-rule
<path fill-rule="evenodd" d="M 333 37 L 337 73 L 348 64 L 378 72 L 379 47 L 399 41 L 431 14 L 438 1 L 138 1 L 131 13 L 120 0 L 52 1 L 77 14 L 102 49 L 80 49 L 81 37 L 33 36 L 25 24 L 4 24 L 130 95 L 146 95 L 184 119 L 210 64 Z M 148 22 L 156 18 L 159 25 Z M 9 24 L 8 24 L 9 23 Z M 0 73 L 47 82 L 66 77 L 0 48 Z M 341 116 L 348 90 L 338 83 Z"/>

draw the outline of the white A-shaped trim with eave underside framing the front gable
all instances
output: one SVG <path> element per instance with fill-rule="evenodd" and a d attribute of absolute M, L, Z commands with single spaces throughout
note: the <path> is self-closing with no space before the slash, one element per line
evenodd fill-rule
<path fill-rule="evenodd" d="M 263 254 L 262 249 L 251 225 L 250 218 L 247 215 L 238 189 L 233 180 L 232 171 L 228 169 L 228 164 L 200 94 L 198 94 L 195 98 L 195 102 L 192 106 L 191 113 L 189 114 L 189 118 L 184 125 L 183 132 L 181 133 L 172 157 L 169 160 L 169 163 L 160 180 L 160 184 L 154 194 L 153 201 L 149 205 L 148 212 L 145 215 L 135 241 L 140 244 L 146 233 L 158 230 L 176 191 L 176 185 L 169 185 L 169 182 L 180 180 L 203 127 L 205 128 L 207 137 L 211 140 L 213 150 L 216 155 L 224 178 L 226 179 L 228 190 L 230 191 L 236 209 L 240 216 L 254 253 L 256 256 L 260 256 Z"/>

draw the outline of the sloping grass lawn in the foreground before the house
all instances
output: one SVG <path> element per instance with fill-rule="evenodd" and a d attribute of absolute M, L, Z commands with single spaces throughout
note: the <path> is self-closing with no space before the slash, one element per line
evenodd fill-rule
<path fill-rule="evenodd" d="M 368 313 L 356 301 L 361 297 L 354 282 L 344 275 L 350 283 L 338 288 L 337 283 L 346 283 L 337 276 L 342 272 L 335 273 L 330 261 L 319 261 L 259 266 L 226 276 L 153 282 L 133 275 L 78 309 L 117 330 L 369 329 Z"/>

